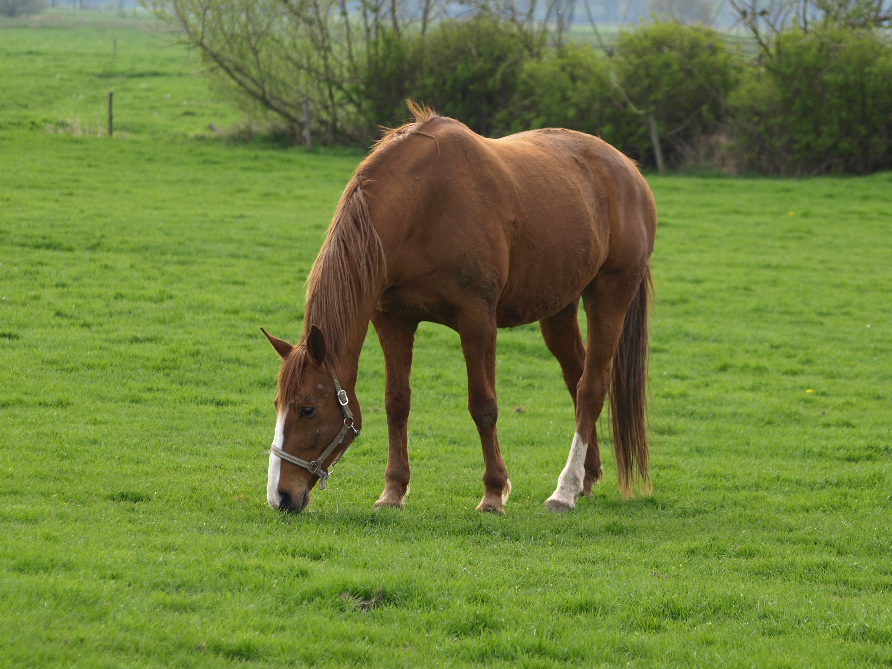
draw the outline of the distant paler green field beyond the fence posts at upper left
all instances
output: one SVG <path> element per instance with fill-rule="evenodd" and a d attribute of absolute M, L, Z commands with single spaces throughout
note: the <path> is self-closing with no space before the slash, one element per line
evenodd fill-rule
<path fill-rule="evenodd" d="M 196 75 L 197 57 L 174 42 L 145 12 L 0 20 L 0 131 L 104 134 L 110 90 L 122 137 L 211 136 L 209 123 L 225 128 L 239 120 Z"/>

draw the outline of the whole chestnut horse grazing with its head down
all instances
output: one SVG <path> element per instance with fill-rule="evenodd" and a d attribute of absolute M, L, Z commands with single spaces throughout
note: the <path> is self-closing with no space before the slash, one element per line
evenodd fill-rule
<path fill-rule="evenodd" d="M 409 490 L 409 369 L 420 321 L 458 332 L 467 407 L 483 446 L 483 511 L 511 482 L 496 436 L 496 331 L 539 321 L 575 407 L 566 467 L 546 507 L 567 511 L 603 475 L 595 425 L 609 390 L 620 491 L 649 489 L 649 259 L 657 209 L 634 163 L 600 139 L 546 128 L 501 139 L 409 104 L 346 186 L 282 358 L 267 499 L 300 511 L 358 434 L 354 393 L 369 321 L 384 351 L 388 451 L 377 507 Z M 588 320 L 587 343 L 577 318 Z M 637 468 L 637 476 L 635 469 Z"/>

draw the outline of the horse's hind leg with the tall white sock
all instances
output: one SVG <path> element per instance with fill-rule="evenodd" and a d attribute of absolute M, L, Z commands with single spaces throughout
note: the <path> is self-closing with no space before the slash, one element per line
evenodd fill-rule
<path fill-rule="evenodd" d="M 576 499 L 591 494 L 603 475 L 596 425 L 610 384 L 610 362 L 623 332 L 625 313 L 638 283 L 624 275 L 596 277 L 582 293 L 588 321 L 588 346 L 582 376 L 576 386 L 576 431 L 558 486 L 545 501 L 552 511 L 575 508 Z"/>

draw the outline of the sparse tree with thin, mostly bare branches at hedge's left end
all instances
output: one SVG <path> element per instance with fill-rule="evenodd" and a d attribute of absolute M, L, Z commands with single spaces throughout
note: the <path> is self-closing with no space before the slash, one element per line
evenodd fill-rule
<path fill-rule="evenodd" d="M 214 86 L 255 115 L 271 113 L 302 128 L 308 100 L 313 129 L 327 141 L 356 129 L 356 101 L 345 83 L 359 65 L 344 0 L 143 2 L 182 31 L 181 41 L 198 50 Z"/>

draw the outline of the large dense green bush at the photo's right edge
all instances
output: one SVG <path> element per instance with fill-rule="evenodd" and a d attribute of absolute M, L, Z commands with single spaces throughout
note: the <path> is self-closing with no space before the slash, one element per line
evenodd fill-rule
<path fill-rule="evenodd" d="M 781 34 L 733 104 L 737 150 L 749 169 L 892 167 L 892 45 L 872 32 Z"/>

